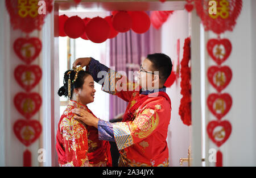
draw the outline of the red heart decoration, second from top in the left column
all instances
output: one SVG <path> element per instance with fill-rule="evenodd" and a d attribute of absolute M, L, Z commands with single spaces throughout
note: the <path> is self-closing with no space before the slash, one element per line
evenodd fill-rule
<path fill-rule="evenodd" d="M 18 65 L 14 70 L 14 77 L 18 84 L 30 92 L 42 78 L 42 70 L 39 65 Z"/>

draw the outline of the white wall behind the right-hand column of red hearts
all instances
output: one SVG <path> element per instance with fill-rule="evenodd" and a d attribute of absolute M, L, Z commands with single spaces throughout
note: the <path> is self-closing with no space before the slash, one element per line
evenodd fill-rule
<path fill-rule="evenodd" d="M 255 1 L 243 1 L 242 11 L 233 32 L 225 32 L 224 35 L 221 35 L 221 38 L 228 38 L 233 47 L 228 60 L 222 63 L 222 65 L 228 65 L 233 72 L 232 81 L 227 88 L 222 90 L 222 93 L 229 93 L 233 99 L 229 113 L 221 119 L 221 121 L 228 120 L 232 125 L 229 139 L 220 147 L 224 166 L 256 165 L 255 4 Z M 253 25 L 254 28 L 252 28 Z M 208 35 L 205 38 L 217 37 L 212 32 L 209 32 Z M 216 65 L 209 56 L 206 60 L 209 65 Z M 209 93 L 216 93 L 209 83 L 207 87 Z M 208 112 L 207 123 L 211 120 L 217 119 Z M 207 142 L 209 148 L 218 150 L 211 141 L 207 140 Z"/>

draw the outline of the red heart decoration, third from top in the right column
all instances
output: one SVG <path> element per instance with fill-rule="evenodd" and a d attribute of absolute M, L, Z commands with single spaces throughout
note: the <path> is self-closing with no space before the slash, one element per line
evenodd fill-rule
<path fill-rule="evenodd" d="M 229 112 L 232 106 L 232 97 L 228 93 L 212 93 L 207 98 L 207 105 L 212 114 L 221 119 Z"/>

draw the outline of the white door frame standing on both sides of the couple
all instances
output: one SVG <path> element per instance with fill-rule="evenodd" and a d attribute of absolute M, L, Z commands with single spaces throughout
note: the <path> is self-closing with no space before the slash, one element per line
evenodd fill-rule
<path fill-rule="evenodd" d="M 91 1 L 90 1 L 91 2 Z M 46 25 L 42 30 L 43 38 L 43 147 L 47 150 L 47 159 L 44 165 L 56 166 L 57 155 L 55 151 L 56 144 L 56 129 L 57 122 L 60 118 L 59 113 L 59 97 L 57 90 L 59 89 L 59 76 L 54 73 L 59 73 L 59 24 L 57 18 L 59 16 L 59 7 L 55 3 L 54 11 L 46 18 Z M 201 139 L 202 139 L 202 121 L 201 121 L 201 61 L 200 61 L 200 18 L 197 16 L 196 11 L 191 13 L 191 86 L 192 86 L 192 166 L 201 166 L 202 152 L 201 152 Z M 48 43 L 44 43 L 48 42 Z M 51 45 L 47 45 L 51 44 Z M 54 76 L 54 77 L 53 77 Z M 51 84 L 49 84 L 51 78 Z M 48 81 L 48 84 L 47 84 Z M 51 110 L 51 112 L 47 112 Z M 54 146 L 54 147 L 53 147 Z"/>

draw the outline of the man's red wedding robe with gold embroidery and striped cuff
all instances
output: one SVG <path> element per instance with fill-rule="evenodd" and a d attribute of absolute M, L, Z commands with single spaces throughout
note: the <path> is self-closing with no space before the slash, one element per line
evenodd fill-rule
<path fill-rule="evenodd" d="M 167 167 L 170 98 L 165 92 L 141 94 L 138 84 L 126 77 L 120 78 L 117 72 L 109 69 L 102 85 L 105 92 L 129 102 L 122 122 L 112 124 L 115 143 L 120 152 L 118 165 Z M 118 84 L 122 81 L 126 82 Z"/>

